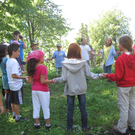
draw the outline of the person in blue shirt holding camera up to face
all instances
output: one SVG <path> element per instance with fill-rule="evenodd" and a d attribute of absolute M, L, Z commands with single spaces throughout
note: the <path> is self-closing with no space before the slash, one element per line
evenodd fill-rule
<path fill-rule="evenodd" d="M 19 40 L 21 39 L 21 41 Z M 18 41 L 20 43 L 20 57 L 17 58 L 17 61 L 19 65 L 21 65 L 21 70 L 25 71 L 24 65 L 25 62 L 23 61 L 23 49 L 27 49 L 26 44 L 24 43 L 23 36 L 20 35 L 19 31 L 14 31 L 14 39 L 10 41 L 10 44 L 12 44 L 13 41 Z"/>

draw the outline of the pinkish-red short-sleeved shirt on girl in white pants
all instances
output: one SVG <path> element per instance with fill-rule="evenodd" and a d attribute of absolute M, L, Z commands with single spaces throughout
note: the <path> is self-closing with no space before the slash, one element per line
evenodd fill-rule
<path fill-rule="evenodd" d="M 46 66 L 39 65 L 35 68 L 35 74 L 32 76 L 33 78 L 32 90 L 43 91 L 43 92 L 49 91 L 48 84 L 41 84 L 40 81 L 41 75 L 46 75 L 45 79 L 48 80 L 47 74 L 48 72 Z"/>

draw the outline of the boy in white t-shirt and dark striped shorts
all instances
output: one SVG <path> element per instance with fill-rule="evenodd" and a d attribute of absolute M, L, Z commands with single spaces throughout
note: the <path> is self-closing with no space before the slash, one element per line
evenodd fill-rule
<path fill-rule="evenodd" d="M 20 104 L 23 103 L 22 79 L 26 79 L 26 77 L 22 76 L 21 68 L 16 60 L 16 58 L 20 55 L 19 49 L 20 45 L 17 43 L 12 43 L 8 46 L 8 54 L 10 58 L 6 63 L 6 71 L 11 96 L 11 107 L 13 112 L 13 118 L 16 122 L 19 122 L 20 120 L 26 120 L 20 116 Z"/>

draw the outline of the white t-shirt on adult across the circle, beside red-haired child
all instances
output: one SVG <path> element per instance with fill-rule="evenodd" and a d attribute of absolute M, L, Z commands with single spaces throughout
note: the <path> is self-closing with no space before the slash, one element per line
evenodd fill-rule
<path fill-rule="evenodd" d="M 80 45 L 82 58 L 85 60 L 89 60 L 89 52 L 91 51 L 88 45 Z"/>

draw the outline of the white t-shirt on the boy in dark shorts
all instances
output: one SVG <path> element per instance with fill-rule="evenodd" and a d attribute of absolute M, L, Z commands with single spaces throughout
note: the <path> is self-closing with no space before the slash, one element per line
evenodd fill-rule
<path fill-rule="evenodd" d="M 12 78 L 12 74 L 22 76 L 21 68 L 17 60 L 14 58 L 9 58 L 6 63 L 6 70 L 7 70 L 8 84 L 9 84 L 10 90 L 12 91 L 20 90 L 23 84 L 23 80 Z"/>

